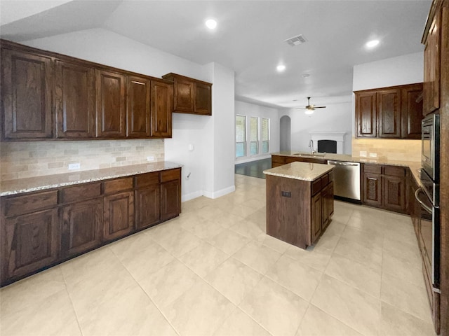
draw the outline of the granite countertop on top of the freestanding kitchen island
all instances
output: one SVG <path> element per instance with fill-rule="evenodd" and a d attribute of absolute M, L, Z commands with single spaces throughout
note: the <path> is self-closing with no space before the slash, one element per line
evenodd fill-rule
<path fill-rule="evenodd" d="M 334 169 L 334 166 L 321 165 L 319 163 L 292 162 L 287 165 L 264 170 L 264 174 L 286 177 L 287 179 L 315 181 L 332 169 Z"/>

